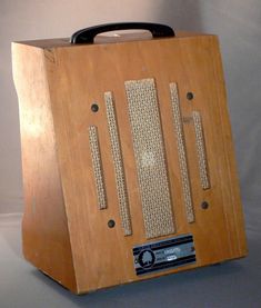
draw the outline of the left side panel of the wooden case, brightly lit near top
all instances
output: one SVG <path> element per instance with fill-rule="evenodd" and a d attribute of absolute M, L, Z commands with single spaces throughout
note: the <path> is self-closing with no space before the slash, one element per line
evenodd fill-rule
<path fill-rule="evenodd" d="M 41 49 L 12 44 L 24 191 L 23 255 L 37 268 L 77 292 L 44 61 Z"/>

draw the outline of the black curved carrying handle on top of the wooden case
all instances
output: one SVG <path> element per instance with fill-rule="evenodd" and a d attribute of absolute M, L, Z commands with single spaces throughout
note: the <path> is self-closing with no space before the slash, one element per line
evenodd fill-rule
<path fill-rule="evenodd" d="M 174 37 L 172 28 L 161 23 L 151 22 L 119 22 L 119 23 L 104 23 L 93 26 L 90 28 L 81 29 L 73 33 L 70 38 L 71 43 L 92 43 L 97 34 L 116 30 L 132 30 L 142 29 L 149 30 L 153 38 L 168 38 Z"/>

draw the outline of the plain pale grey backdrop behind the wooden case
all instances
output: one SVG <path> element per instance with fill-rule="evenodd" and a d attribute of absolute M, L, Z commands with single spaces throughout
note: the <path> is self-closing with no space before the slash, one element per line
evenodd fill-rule
<path fill-rule="evenodd" d="M 260 0 L 0 0 L 0 213 L 22 211 L 18 102 L 10 43 L 69 37 L 114 21 L 152 21 L 220 37 L 247 220 L 261 199 Z M 258 222 L 258 221 L 257 221 Z"/>

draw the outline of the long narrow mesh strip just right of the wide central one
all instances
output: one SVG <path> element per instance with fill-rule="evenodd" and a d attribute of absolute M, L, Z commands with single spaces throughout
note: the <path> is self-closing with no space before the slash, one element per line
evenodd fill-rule
<path fill-rule="evenodd" d="M 177 88 L 177 83 L 174 83 L 174 82 L 170 83 L 170 96 L 171 96 L 174 131 L 175 131 L 175 136 L 177 136 L 179 165 L 180 165 L 180 171 L 181 171 L 181 180 L 182 180 L 182 189 L 183 189 L 183 199 L 184 199 L 184 205 L 185 205 L 187 220 L 188 220 L 188 222 L 193 222 L 194 213 L 193 213 L 193 205 L 192 205 L 192 198 L 191 198 L 189 170 L 188 170 L 188 163 L 187 163 L 183 125 L 182 125 L 182 117 L 181 117 L 181 111 L 180 111 L 178 88 Z"/>

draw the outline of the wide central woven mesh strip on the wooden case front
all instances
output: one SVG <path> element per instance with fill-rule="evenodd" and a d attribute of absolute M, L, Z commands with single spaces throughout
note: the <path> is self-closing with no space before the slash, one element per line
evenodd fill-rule
<path fill-rule="evenodd" d="M 126 81 L 147 238 L 174 232 L 164 146 L 153 79 Z"/>

